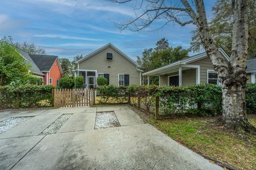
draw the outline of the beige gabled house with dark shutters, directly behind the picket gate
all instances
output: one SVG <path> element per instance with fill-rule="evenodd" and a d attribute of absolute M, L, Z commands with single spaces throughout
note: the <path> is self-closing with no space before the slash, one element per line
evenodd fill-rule
<path fill-rule="evenodd" d="M 77 61 L 75 76 L 84 77 L 84 88 L 97 86 L 97 78 L 105 77 L 108 84 L 128 86 L 141 84 L 138 64 L 112 44 L 107 44 Z"/>

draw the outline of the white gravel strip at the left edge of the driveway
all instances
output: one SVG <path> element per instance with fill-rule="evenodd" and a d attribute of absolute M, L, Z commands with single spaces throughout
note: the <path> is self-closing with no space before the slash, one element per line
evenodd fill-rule
<path fill-rule="evenodd" d="M 10 117 L 0 122 L 0 134 L 7 131 L 8 129 L 17 126 L 18 124 L 29 120 L 32 117 Z"/>

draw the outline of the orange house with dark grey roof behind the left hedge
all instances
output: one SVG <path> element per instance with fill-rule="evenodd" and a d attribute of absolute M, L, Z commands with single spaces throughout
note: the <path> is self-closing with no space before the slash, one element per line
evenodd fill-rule
<path fill-rule="evenodd" d="M 58 56 L 31 55 L 17 48 L 18 52 L 31 65 L 30 72 L 43 80 L 44 85 L 58 86 L 62 77 L 62 69 Z"/>

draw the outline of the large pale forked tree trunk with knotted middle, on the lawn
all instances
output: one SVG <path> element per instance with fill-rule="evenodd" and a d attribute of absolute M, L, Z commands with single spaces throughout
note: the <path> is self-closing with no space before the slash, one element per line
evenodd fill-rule
<path fill-rule="evenodd" d="M 197 9 L 196 23 L 202 45 L 211 58 L 214 69 L 218 72 L 222 87 L 222 117 L 221 121 L 229 129 L 239 132 L 256 133 L 247 120 L 245 103 L 246 57 L 248 48 L 248 2 L 233 0 L 234 23 L 232 52 L 230 62 L 227 62 L 218 52 L 213 43 L 207 24 L 204 3 L 195 0 Z"/>

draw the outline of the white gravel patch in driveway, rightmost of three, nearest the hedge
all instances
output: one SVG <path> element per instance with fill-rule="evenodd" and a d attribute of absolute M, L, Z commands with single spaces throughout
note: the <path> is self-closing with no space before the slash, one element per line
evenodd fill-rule
<path fill-rule="evenodd" d="M 121 126 L 115 112 L 97 112 L 95 129 L 114 128 Z"/>

